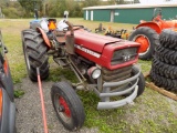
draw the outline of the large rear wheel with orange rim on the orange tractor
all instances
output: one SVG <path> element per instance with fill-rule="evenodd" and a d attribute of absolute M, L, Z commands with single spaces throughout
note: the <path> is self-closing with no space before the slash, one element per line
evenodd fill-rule
<path fill-rule="evenodd" d="M 139 59 L 149 60 L 154 54 L 155 45 L 159 44 L 159 35 L 148 27 L 137 28 L 131 35 L 131 41 L 140 43 Z"/>

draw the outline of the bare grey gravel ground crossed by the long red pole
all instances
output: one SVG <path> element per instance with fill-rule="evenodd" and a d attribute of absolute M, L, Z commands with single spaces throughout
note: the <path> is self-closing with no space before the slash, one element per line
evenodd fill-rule
<path fill-rule="evenodd" d="M 45 112 L 48 120 L 49 133 L 69 133 L 59 122 L 54 112 L 50 90 L 52 82 L 42 82 Z M 23 90 L 25 94 L 21 99 L 15 99 L 17 112 L 17 131 L 18 133 L 43 133 L 42 111 L 38 83 L 31 82 L 28 78 L 22 83 L 15 84 L 14 90 Z M 77 133 L 97 133 L 97 129 L 82 127 Z"/>

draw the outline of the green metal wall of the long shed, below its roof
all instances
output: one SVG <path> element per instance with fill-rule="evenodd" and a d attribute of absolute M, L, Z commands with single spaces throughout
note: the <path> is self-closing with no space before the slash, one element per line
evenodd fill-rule
<path fill-rule="evenodd" d="M 134 8 L 134 9 L 94 9 L 93 21 L 111 21 L 111 12 L 114 12 L 114 22 L 121 23 L 139 23 L 139 20 L 150 21 L 155 8 Z M 177 7 L 163 7 L 163 19 L 169 20 L 177 17 Z M 88 20 L 91 20 L 91 10 L 88 11 Z M 84 19 L 86 20 L 86 10 L 84 10 Z"/>

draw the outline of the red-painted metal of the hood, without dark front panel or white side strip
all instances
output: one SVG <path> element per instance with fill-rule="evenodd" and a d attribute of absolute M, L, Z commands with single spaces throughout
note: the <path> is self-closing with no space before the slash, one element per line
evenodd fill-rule
<path fill-rule="evenodd" d="M 113 57 L 114 51 L 129 48 L 129 47 L 139 48 L 140 44 L 137 42 L 125 41 L 122 39 L 111 38 L 106 35 L 100 35 L 95 33 L 90 33 L 87 31 L 75 31 L 74 35 L 75 35 L 76 44 L 83 48 L 87 48 L 96 53 L 100 53 L 101 57 L 96 58 L 80 49 L 75 49 L 76 53 L 110 70 L 114 70 L 114 69 L 118 69 L 118 68 L 123 68 L 123 66 L 136 63 L 138 60 L 138 54 L 137 54 L 135 60 L 127 61 L 122 64 L 111 65 L 111 59 Z"/>

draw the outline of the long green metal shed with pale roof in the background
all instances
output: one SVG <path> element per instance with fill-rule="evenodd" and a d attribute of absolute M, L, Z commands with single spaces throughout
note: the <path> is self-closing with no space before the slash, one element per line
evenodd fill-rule
<path fill-rule="evenodd" d="M 100 6 L 83 8 L 83 10 L 85 20 L 137 24 L 139 20 L 150 21 L 155 8 L 162 8 L 163 19 L 177 17 L 177 3 Z"/>

